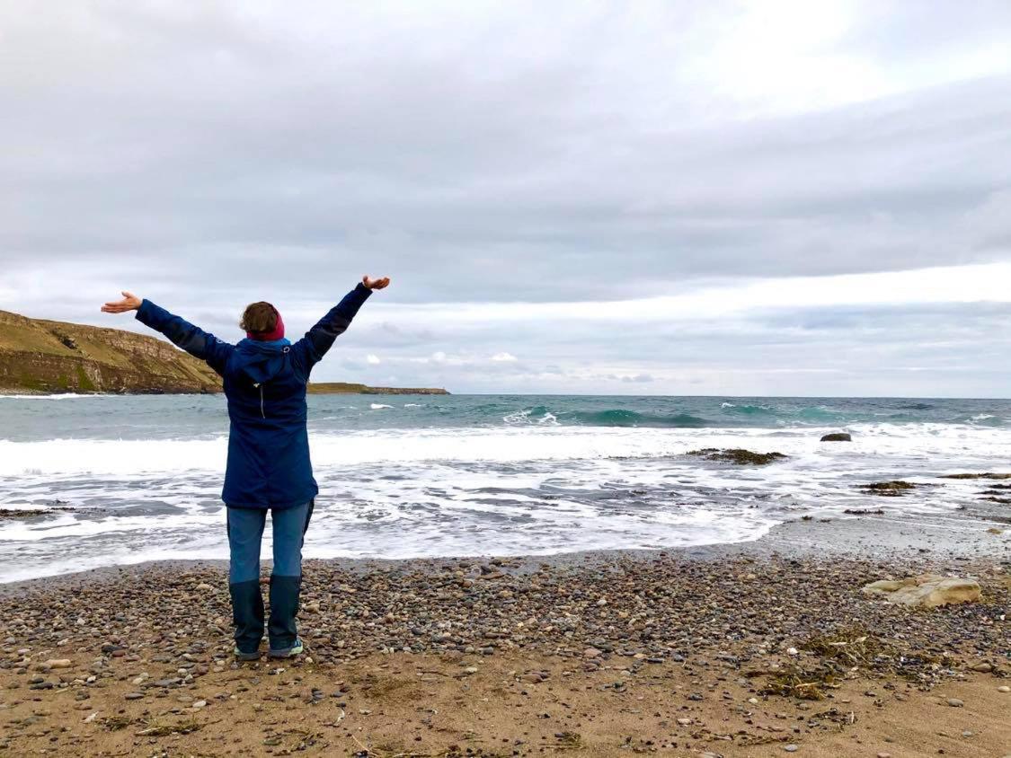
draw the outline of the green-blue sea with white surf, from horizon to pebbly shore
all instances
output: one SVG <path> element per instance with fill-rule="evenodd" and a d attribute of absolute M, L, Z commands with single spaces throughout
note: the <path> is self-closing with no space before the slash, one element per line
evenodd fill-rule
<path fill-rule="evenodd" d="M 219 395 L 0 396 L 0 581 L 226 558 L 227 434 Z M 1011 400 L 310 395 L 309 439 L 307 558 L 671 549 L 805 515 L 952 512 L 979 487 L 859 485 L 1011 470 Z M 687 455 L 704 448 L 787 458 Z"/>

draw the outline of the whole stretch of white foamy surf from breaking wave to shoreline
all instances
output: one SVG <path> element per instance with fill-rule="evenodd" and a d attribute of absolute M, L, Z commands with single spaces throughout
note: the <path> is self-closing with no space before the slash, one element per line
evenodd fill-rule
<path fill-rule="evenodd" d="M 1011 460 L 1011 430 L 987 424 L 854 423 L 852 443 L 825 445 L 819 438 L 834 429 L 559 427 L 528 415 L 504 428 L 311 434 L 321 496 L 306 556 L 740 542 L 799 513 L 859 506 L 866 495 L 858 483 L 901 472 L 936 484 L 940 473 L 1008 470 Z M 706 447 L 789 458 L 757 468 L 683 455 Z M 5 507 L 38 508 L 60 498 L 73 508 L 0 523 L 0 580 L 226 557 L 217 499 L 225 457 L 223 437 L 0 441 Z M 948 512 L 978 489 L 950 481 L 881 504 L 897 513 Z"/>

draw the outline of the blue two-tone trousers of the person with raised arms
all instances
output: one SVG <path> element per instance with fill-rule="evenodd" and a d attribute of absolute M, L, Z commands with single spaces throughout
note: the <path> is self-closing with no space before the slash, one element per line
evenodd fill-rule
<path fill-rule="evenodd" d="M 294 647 L 298 639 L 295 617 L 302 584 L 302 544 L 312 517 L 310 500 L 293 508 L 272 508 L 274 569 L 270 576 L 270 623 L 267 631 L 272 651 Z M 261 508 L 226 508 L 228 528 L 228 589 L 236 647 L 255 653 L 263 639 L 264 607 L 260 592 L 260 544 L 267 523 Z"/>

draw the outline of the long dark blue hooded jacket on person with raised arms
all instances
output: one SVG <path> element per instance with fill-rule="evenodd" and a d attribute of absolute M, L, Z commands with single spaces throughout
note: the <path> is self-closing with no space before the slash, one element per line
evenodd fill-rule
<path fill-rule="evenodd" d="M 319 487 L 309 459 L 305 386 L 312 367 L 370 294 L 359 284 L 294 344 L 246 339 L 229 345 L 150 300 L 142 303 L 137 320 L 206 361 L 224 380 L 232 421 L 221 492 L 226 505 L 286 508 L 315 497 Z"/>

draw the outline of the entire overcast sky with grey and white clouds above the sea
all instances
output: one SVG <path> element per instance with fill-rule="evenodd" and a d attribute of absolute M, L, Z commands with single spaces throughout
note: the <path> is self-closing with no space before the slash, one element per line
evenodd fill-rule
<path fill-rule="evenodd" d="M 456 392 L 1011 396 L 1011 2 L 0 0 L 0 308 Z"/>

